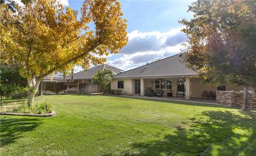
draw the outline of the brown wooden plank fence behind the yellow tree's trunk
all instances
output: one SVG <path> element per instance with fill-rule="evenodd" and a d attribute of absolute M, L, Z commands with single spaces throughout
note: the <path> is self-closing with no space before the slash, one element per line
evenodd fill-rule
<path fill-rule="evenodd" d="M 9 84 L 9 83 L 7 83 Z M 20 84 L 22 87 L 27 86 L 27 81 L 19 81 L 15 84 Z M 38 88 L 39 92 L 39 88 Z M 38 94 L 38 92 L 36 94 Z M 94 83 L 68 83 L 63 81 L 43 81 L 43 95 L 62 95 L 62 94 L 90 94 L 101 93 L 102 89 Z M 27 92 L 15 94 L 13 96 L 27 96 Z"/>

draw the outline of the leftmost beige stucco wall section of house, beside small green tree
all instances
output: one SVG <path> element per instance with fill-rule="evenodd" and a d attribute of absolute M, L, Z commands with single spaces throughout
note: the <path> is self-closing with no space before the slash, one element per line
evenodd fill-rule
<path fill-rule="evenodd" d="M 122 94 L 134 94 L 134 85 L 132 85 L 132 79 L 113 79 L 111 80 L 110 88 L 111 89 L 119 89 L 117 88 L 117 81 L 123 80 L 124 81 L 124 88 L 122 90 Z"/>

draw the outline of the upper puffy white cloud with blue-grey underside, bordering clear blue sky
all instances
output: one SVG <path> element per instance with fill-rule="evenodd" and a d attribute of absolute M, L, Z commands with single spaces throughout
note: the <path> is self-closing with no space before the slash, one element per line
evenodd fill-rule
<path fill-rule="evenodd" d="M 134 54 L 137 52 L 159 51 L 162 48 L 186 42 L 187 37 L 181 32 L 181 29 L 182 27 L 168 32 L 139 32 L 134 30 L 127 34 L 128 44 L 119 53 Z"/>

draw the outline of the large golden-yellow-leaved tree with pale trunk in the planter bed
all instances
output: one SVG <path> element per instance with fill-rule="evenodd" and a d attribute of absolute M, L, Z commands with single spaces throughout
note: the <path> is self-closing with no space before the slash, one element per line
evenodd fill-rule
<path fill-rule="evenodd" d="M 28 105 L 41 80 L 55 71 L 83 63 L 101 64 L 127 43 L 126 20 L 117 0 L 85 0 L 78 12 L 57 0 L 33 0 L 13 13 L 0 6 L 0 52 L 4 62 L 21 66 L 28 80 Z M 94 29 L 89 27 L 94 23 Z"/>

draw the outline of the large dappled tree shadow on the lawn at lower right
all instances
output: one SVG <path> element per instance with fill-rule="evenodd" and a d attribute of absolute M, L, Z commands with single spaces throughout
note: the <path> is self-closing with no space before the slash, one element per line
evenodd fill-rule
<path fill-rule="evenodd" d="M 190 119 L 190 127 L 176 125 L 174 134 L 161 140 L 136 142 L 125 155 L 245 155 L 256 153 L 256 118 L 253 112 L 204 111 Z"/>

